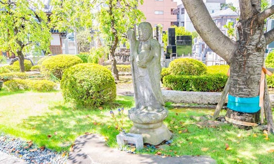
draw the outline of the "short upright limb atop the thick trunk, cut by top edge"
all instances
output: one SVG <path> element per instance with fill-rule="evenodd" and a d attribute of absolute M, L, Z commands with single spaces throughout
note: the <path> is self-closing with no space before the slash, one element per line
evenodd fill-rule
<path fill-rule="evenodd" d="M 251 0 L 239 0 L 239 5 L 240 5 L 240 19 L 248 19 L 250 18 L 253 14 L 253 7 L 251 4 Z"/>

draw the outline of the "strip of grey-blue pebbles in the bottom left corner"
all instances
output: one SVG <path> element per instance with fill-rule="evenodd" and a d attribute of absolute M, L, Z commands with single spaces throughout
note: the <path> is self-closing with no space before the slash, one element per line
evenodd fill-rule
<path fill-rule="evenodd" d="M 67 153 L 57 153 L 47 148 L 37 148 L 32 142 L 0 134 L 0 151 L 16 156 L 30 164 L 65 164 Z"/>

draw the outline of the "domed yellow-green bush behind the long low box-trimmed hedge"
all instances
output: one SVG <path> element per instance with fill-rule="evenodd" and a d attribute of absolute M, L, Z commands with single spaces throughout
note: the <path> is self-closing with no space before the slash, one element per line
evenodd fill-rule
<path fill-rule="evenodd" d="M 171 75 L 203 75 L 207 67 L 198 60 L 180 58 L 170 62 L 169 71 Z"/>

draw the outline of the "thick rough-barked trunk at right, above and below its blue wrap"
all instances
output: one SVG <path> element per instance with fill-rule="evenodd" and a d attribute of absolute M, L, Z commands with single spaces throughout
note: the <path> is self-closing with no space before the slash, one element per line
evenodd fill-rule
<path fill-rule="evenodd" d="M 230 65 L 229 94 L 241 98 L 256 97 L 259 95 L 259 82 L 266 47 L 263 24 L 252 17 L 248 20 L 240 20 L 237 28 L 240 36 L 240 40 L 237 41 L 238 51 L 228 63 Z M 226 117 L 231 118 L 237 115 L 236 120 L 258 123 L 257 119 L 253 118 L 259 118 L 259 112 L 247 115 L 236 111 L 231 113 L 227 112 Z"/>

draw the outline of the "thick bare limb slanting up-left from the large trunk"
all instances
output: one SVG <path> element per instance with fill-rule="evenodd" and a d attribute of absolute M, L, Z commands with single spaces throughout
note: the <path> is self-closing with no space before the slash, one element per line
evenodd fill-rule
<path fill-rule="evenodd" d="M 182 0 L 194 28 L 210 48 L 229 62 L 237 49 L 236 42 L 229 39 L 213 22 L 203 0 Z"/>

